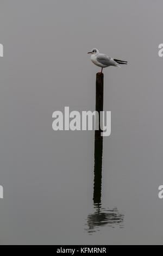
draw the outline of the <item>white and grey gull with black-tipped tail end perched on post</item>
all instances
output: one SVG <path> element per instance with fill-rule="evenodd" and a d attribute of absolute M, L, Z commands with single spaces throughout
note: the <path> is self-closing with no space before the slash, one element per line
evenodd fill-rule
<path fill-rule="evenodd" d="M 92 51 L 88 53 L 91 53 L 91 61 L 96 66 L 101 66 L 102 70 L 99 74 L 102 74 L 103 68 L 106 68 L 107 66 L 118 66 L 121 68 L 118 64 L 128 64 L 128 62 L 124 62 L 124 60 L 110 58 L 104 53 L 99 53 L 96 48 L 93 48 Z"/>

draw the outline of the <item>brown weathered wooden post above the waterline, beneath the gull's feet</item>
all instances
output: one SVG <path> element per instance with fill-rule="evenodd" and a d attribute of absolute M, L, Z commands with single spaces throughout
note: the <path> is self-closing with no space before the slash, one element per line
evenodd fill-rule
<path fill-rule="evenodd" d="M 101 140 L 102 130 L 100 129 L 100 111 L 103 111 L 103 99 L 104 99 L 104 74 L 96 74 L 96 111 L 99 115 L 99 130 L 95 131 L 95 140 Z"/>

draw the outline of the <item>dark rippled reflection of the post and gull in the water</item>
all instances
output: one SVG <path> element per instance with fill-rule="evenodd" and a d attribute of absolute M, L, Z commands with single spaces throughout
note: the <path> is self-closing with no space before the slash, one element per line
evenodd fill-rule
<path fill-rule="evenodd" d="M 96 138 L 97 136 L 95 136 Z M 87 232 L 92 234 L 102 226 L 123 228 L 124 216 L 117 208 L 105 209 L 101 205 L 102 190 L 102 155 L 103 139 L 95 139 L 95 166 L 94 166 L 94 187 L 93 187 L 93 206 L 95 212 L 87 216 Z"/>

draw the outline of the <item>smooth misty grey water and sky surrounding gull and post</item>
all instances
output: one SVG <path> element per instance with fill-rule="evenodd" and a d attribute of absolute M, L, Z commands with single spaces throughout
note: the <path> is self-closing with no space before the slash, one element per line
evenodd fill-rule
<path fill-rule="evenodd" d="M 1 0 L 0 243 L 162 244 L 161 0 Z M 52 113 L 95 109 L 93 47 L 104 69 L 102 204 L 124 227 L 85 231 L 93 211 L 94 132 L 53 131 Z"/>

